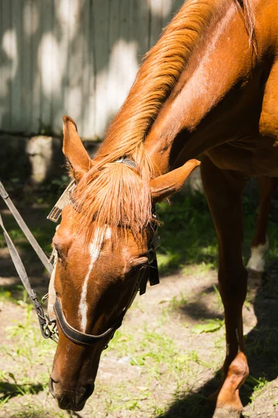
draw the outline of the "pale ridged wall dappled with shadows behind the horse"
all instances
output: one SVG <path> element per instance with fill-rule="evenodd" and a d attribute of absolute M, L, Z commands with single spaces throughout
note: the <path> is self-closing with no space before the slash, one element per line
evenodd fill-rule
<path fill-rule="evenodd" d="M 0 0 L 0 130 L 103 137 L 184 0 Z"/>

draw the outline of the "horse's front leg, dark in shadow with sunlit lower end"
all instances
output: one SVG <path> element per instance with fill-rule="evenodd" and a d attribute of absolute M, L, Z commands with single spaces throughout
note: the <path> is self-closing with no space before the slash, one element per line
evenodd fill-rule
<path fill-rule="evenodd" d="M 202 158 L 202 180 L 218 234 L 219 290 L 224 304 L 227 354 L 224 381 L 217 396 L 213 418 L 238 418 L 243 405 L 240 386 L 249 373 L 244 354 L 242 308 L 247 291 L 243 266 L 243 217 L 241 194 L 245 180 L 233 171 L 222 171 L 208 157 Z"/>

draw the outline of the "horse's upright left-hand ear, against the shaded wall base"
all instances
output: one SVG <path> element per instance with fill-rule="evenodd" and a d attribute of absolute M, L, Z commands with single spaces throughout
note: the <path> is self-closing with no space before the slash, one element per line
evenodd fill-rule
<path fill-rule="evenodd" d="M 73 119 L 63 116 L 63 122 L 63 153 L 70 163 L 74 178 L 79 181 L 92 167 L 92 160 L 82 144 Z"/>

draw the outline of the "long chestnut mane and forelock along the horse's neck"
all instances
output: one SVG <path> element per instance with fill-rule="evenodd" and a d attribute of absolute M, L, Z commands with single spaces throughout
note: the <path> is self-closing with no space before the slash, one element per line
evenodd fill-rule
<path fill-rule="evenodd" d="M 252 0 L 234 1 L 240 6 L 252 39 Z M 85 215 L 95 219 L 93 224 L 97 228 L 126 222 L 137 235 L 151 221 L 149 180 L 154 171 L 144 141 L 219 5 L 219 0 L 186 1 L 143 58 L 131 91 L 108 128 L 92 169 L 76 188 L 76 201 Z M 138 174 L 124 164 L 114 163 L 123 156 L 134 160 Z"/>

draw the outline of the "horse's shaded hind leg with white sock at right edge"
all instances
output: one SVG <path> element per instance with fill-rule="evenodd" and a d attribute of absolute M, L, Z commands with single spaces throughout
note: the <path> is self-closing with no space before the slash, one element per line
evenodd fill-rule
<path fill-rule="evenodd" d="M 264 255 L 268 251 L 268 238 L 266 231 L 268 229 L 268 215 L 272 194 L 278 185 L 278 178 L 259 177 L 259 211 L 256 219 L 256 233 L 251 244 L 251 257 L 247 263 L 247 269 L 255 272 L 263 272 Z"/>

